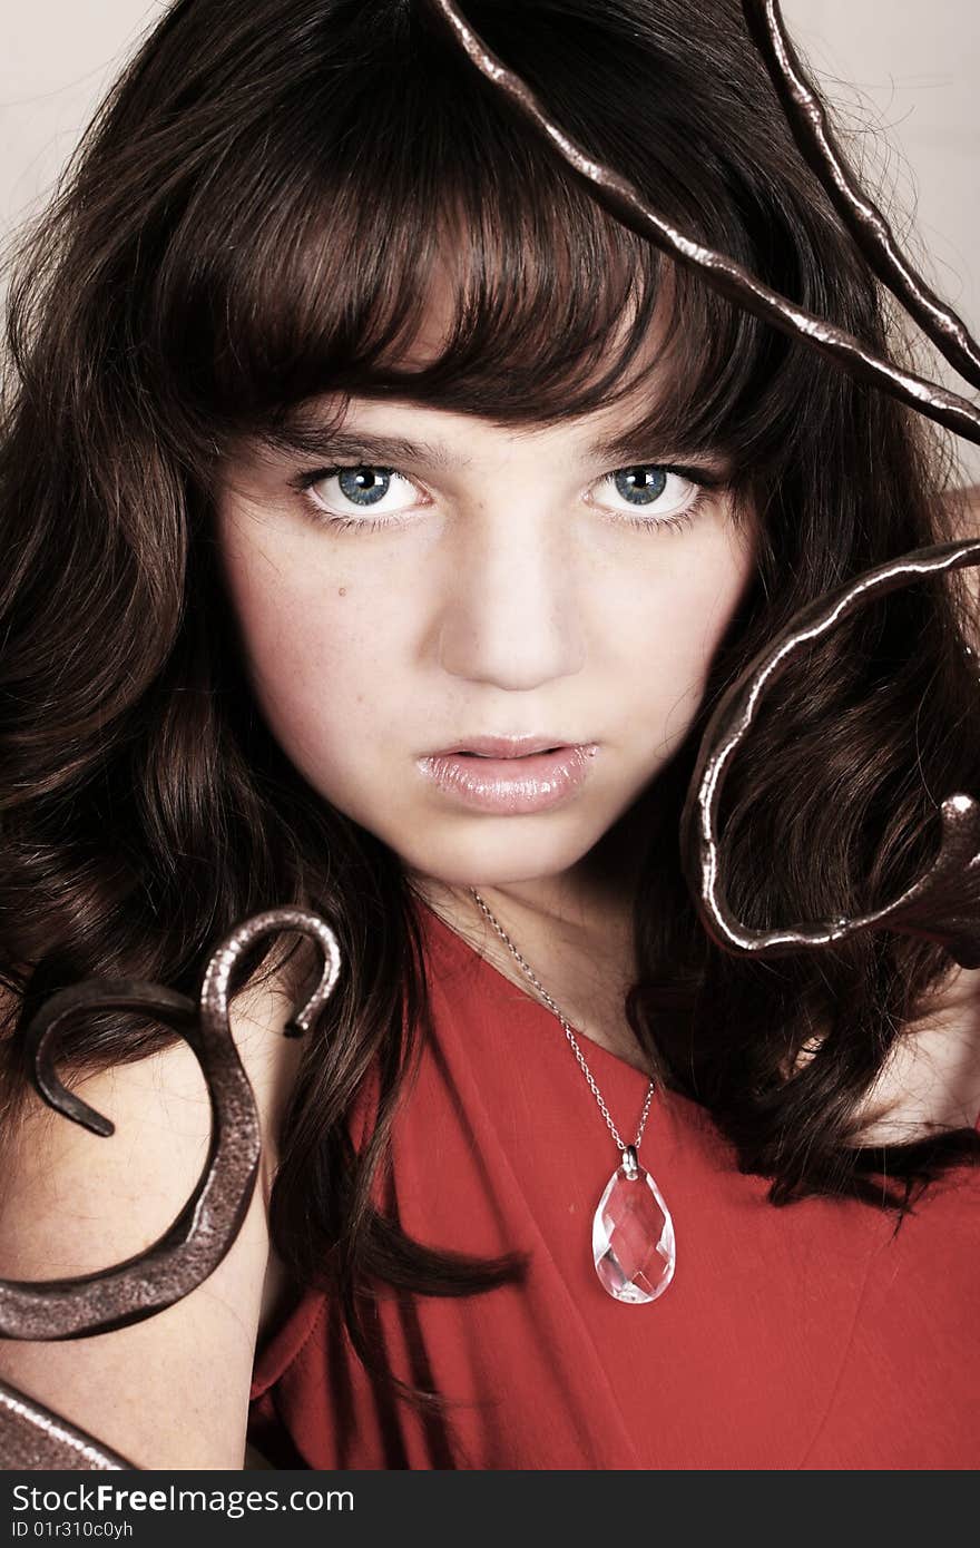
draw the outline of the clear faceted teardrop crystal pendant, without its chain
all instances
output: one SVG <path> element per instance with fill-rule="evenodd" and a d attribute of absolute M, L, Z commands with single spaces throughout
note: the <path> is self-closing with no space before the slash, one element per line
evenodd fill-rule
<path fill-rule="evenodd" d="M 649 1172 L 627 1146 L 591 1223 L 591 1254 L 602 1289 L 630 1307 L 656 1300 L 673 1279 L 673 1221 Z"/>

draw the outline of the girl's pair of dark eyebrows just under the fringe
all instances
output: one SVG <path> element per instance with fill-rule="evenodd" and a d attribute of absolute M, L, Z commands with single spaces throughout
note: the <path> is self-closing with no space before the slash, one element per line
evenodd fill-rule
<path fill-rule="evenodd" d="M 265 437 L 266 443 L 272 449 L 286 452 L 297 457 L 310 457 L 322 461 L 350 461 L 364 463 L 365 466 L 398 466 L 399 463 L 416 463 L 429 467 L 438 467 L 444 472 L 466 471 L 472 467 L 472 458 L 463 454 L 449 450 L 446 446 L 440 446 L 437 441 L 413 441 L 401 435 L 378 435 L 368 430 L 330 430 L 327 426 L 317 426 L 310 423 L 293 423 L 277 429 L 276 432 Z M 630 460 L 649 461 L 653 450 L 650 441 L 653 433 L 642 435 L 639 430 L 625 430 L 621 435 L 613 437 L 607 441 L 598 441 L 588 446 L 579 461 L 582 464 L 599 461 L 599 463 L 616 463 L 629 466 Z M 673 450 L 678 455 L 667 455 L 667 450 Z M 658 458 L 664 463 L 683 461 L 683 455 L 697 457 L 703 460 L 708 466 L 718 464 L 720 458 L 717 454 L 708 449 L 689 447 L 686 454 L 680 447 L 658 447 Z"/>

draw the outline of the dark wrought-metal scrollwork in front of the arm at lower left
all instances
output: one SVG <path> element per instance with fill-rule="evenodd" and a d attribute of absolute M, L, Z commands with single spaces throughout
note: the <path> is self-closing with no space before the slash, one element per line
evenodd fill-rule
<path fill-rule="evenodd" d="M 341 952 L 319 915 L 294 907 L 252 915 L 224 937 L 207 961 L 198 1005 L 161 985 L 90 978 L 53 994 L 39 1009 L 26 1031 L 26 1048 L 34 1082 L 50 1107 L 91 1133 L 110 1136 L 113 1124 L 68 1091 L 56 1074 L 57 1039 L 70 1020 L 87 1011 L 146 1011 L 180 1033 L 198 1059 L 211 1101 L 211 1146 L 190 1198 L 146 1252 L 74 1279 L 0 1280 L 0 1337 L 74 1339 L 127 1327 L 190 1294 L 228 1254 L 251 1203 L 260 1156 L 255 1099 L 229 1026 L 229 986 L 243 952 L 263 935 L 280 930 L 308 935 L 324 952 L 316 989 L 286 1023 L 286 1036 L 300 1036 L 333 992 Z M 5 1466 L 124 1466 L 121 1458 L 93 1461 L 96 1454 L 115 1457 L 23 1393 L 0 1385 Z M 20 1460 L 9 1461 L 11 1455 Z M 37 1460 L 42 1457 L 50 1460 Z"/>

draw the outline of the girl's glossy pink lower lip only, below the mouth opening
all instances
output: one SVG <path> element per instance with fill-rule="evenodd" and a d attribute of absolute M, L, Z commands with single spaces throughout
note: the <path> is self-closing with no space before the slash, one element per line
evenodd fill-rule
<path fill-rule="evenodd" d="M 525 759 L 478 759 L 441 752 L 420 759 L 423 774 L 461 807 L 517 814 L 568 800 L 588 776 L 595 741 L 531 752 Z"/>

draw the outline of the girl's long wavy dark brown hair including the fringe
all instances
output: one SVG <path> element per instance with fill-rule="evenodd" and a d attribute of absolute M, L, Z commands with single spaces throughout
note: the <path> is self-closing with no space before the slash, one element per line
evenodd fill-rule
<path fill-rule="evenodd" d="M 735 0 L 466 12 L 673 223 L 889 348 L 879 286 L 802 164 Z M 455 325 L 407 372 L 446 252 Z M 678 817 L 718 694 L 773 632 L 952 536 L 935 433 L 672 269 L 410 0 L 180 0 L 15 255 L 0 449 L 9 1101 L 15 1034 L 54 989 L 113 974 L 194 994 L 246 915 L 325 915 L 344 972 L 293 1091 L 272 1231 L 297 1282 L 338 1289 L 362 1353 L 364 1282 L 464 1294 L 520 1263 L 423 1248 L 372 1203 L 426 1019 L 413 899 L 398 856 L 305 783 L 255 707 L 214 494 L 240 437 L 276 438 L 325 392 L 500 423 L 608 404 L 635 384 L 658 305 L 670 390 L 650 393 L 650 430 L 729 455 L 760 539 L 695 723 L 642 797 L 630 1015 L 660 1077 L 773 1180 L 773 1203 L 858 1194 L 901 1212 L 980 1150 L 968 1130 L 862 1147 L 856 1118 L 949 958 L 889 933 L 777 963 L 720 952 L 683 882 Z M 929 858 L 938 802 L 980 788 L 960 605 L 941 585 L 889 596 L 786 676 L 729 780 L 729 893 L 748 923 L 881 906 Z M 102 1014 L 68 1056 L 135 1059 L 164 1039 Z M 358 1156 L 347 1118 L 375 1063 Z"/>

